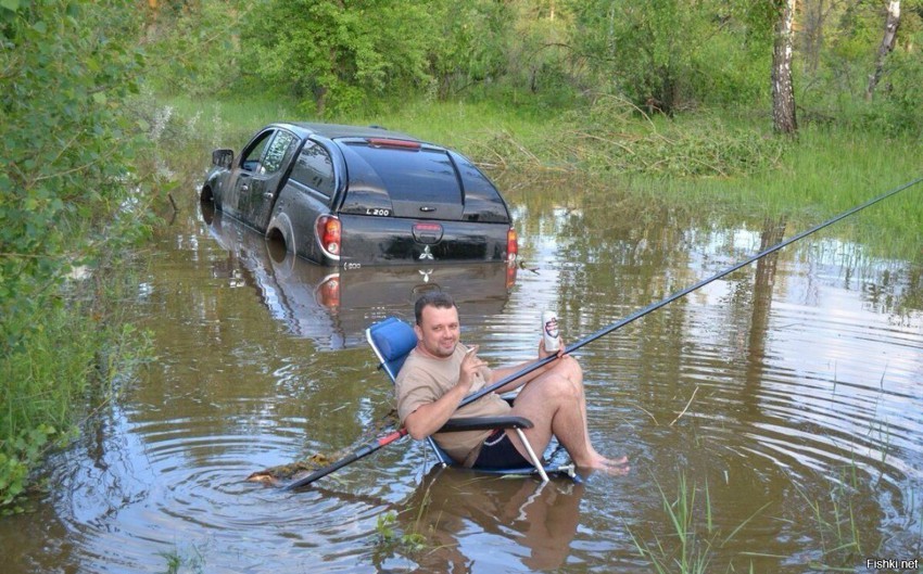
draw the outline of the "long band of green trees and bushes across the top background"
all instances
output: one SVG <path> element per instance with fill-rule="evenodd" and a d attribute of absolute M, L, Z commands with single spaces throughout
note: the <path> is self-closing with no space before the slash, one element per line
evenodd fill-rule
<path fill-rule="evenodd" d="M 919 131 L 921 0 L 903 0 L 881 89 L 863 98 L 885 5 L 798 2 L 795 86 L 808 122 Z M 546 111 L 598 93 L 673 114 L 767 110 L 776 17 L 774 2 L 749 0 L 176 0 L 149 39 L 159 61 L 178 64 L 159 69 L 164 87 L 268 86 L 312 116 L 458 97 Z"/>

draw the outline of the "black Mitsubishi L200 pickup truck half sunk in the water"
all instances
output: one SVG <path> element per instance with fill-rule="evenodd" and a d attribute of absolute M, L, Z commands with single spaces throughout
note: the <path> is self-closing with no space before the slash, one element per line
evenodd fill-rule
<path fill-rule="evenodd" d="M 517 238 L 496 187 L 448 149 L 379 127 L 277 123 L 215 150 L 200 194 L 321 265 L 503 262 Z"/>

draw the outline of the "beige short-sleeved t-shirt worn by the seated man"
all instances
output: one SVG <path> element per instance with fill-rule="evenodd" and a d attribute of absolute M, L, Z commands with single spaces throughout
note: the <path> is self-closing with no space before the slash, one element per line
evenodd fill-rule
<path fill-rule="evenodd" d="M 462 359 L 468 348 L 458 344 L 451 357 L 440 359 L 428 357 L 415 348 L 404 361 L 397 373 L 394 392 L 397 396 L 397 416 L 404 422 L 409 414 L 423 405 L 435 403 L 458 382 Z M 491 370 L 481 369 L 475 377 L 471 393 L 490 384 Z M 509 414 L 510 406 L 496 393 L 489 393 L 478 400 L 458 409 L 457 417 L 502 417 Z M 435 433 L 432 437 L 456 462 L 470 467 L 478 458 L 481 444 L 491 431 L 464 431 L 457 433 Z"/>

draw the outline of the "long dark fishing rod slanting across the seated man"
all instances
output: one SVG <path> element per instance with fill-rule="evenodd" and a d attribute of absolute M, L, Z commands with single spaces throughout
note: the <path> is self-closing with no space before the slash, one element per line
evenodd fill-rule
<path fill-rule="evenodd" d="M 741 269 L 742 267 L 746 267 L 747 265 L 756 262 L 757 259 L 761 259 L 761 258 L 766 257 L 767 255 L 775 253 L 779 250 L 786 247 L 786 246 L 791 245 L 792 243 L 795 243 L 796 241 L 802 240 L 806 237 L 808 237 L 812 233 L 815 233 L 815 232 L 820 231 L 821 229 L 823 229 L 825 227 L 832 226 L 833 224 L 835 224 L 835 222 L 837 222 L 842 219 L 845 219 L 845 218 L 847 218 L 847 217 L 849 217 L 849 216 L 851 216 L 851 215 L 854 215 L 858 212 L 861 212 L 862 209 L 870 207 L 870 206 L 872 206 L 872 205 L 874 205 L 874 204 L 876 204 L 881 201 L 884 201 L 884 200 L 890 197 L 892 195 L 900 193 L 901 191 L 903 191 L 903 190 L 906 190 L 910 187 L 913 187 L 916 183 L 920 183 L 921 181 L 923 181 L 923 177 L 916 178 L 916 179 L 914 179 L 914 180 L 912 180 L 908 183 L 905 183 L 905 184 L 899 186 L 899 187 L 897 187 L 897 188 L 895 188 L 890 191 L 882 193 L 877 197 L 873 197 L 873 199 L 867 201 L 865 203 L 863 203 L 861 205 L 857 205 L 856 207 L 852 207 L 851 209 L 847 209 L 846 212 L 843 212 L 842 214 L 839 214 L 835 217 L 832 217 L 832 218 L 827 219 L 826 221 L 808 229 L 807 231 L 802 231 L 802 232 L 798 233 L 797 235 L 793 235 L 792 238 L 786 239 L 785 241 L 782 241 L 780 243 L 776 243 L 775 245 L 773 245 L 773 246 L 771 246 L 771 247 L 769 247 L 764 251 L 761 251 L 760 253 L 757 253 L 756 255 L 753 255 L 751 257 L 748 257 L 748 258 L 746 258 L 746 259 L 744 259 L 744 260 L 742 260 L 737 264 L 734 264 L 731 267 L 728 267 L 726 269 L 723 269 L 722 271 L 719 271 L 719 272 L 715 273 L 713 276 L 711 276 L 707 279 L 703 279 L 701 281 L 699 281 L 698 283 L 695 283 L 694 285 L 687 286 L 686 289 L 683 289 L 682 291 L 678 291 L 678 292 L 673 293 L 672 295 L 670 295 L 669 297 L 667 297 L 665 299 L 661 299 L 657 303 L 648 305 L 647 307 L 641 308 L 641 309 L 636 310 L 635 312 L 629 315 L 624 319 L 621 319 L 620 321 L 617 321 L 617 322 L 615 322 L 615 323 L 612 323 L 612 324 L 610 324 L 606 328 L 603 328 L 603 329 L 596 331 L 595 333 L 593 333 L 593 334 L 591 334 L 591 335 L 589 335 L 584 339 L 581 339 L 580 341 L 578 341 L 576 343 L 568 345 L 567 347 L 565 347 L 564 354 L 573 353 L 574 350 L 583 347 L 584 345 L 592 343 L 599 337 L 606 336 L 607 334 L 609 334 L 614 331 L 617 331 L 617 330 L 621 329 L 622 327 L 641 319 L 645 315 L 653 312 L 653 311 L 656 311 L 660 307 L 669 305 L 670 303 L 677 301 L 678 298 L 681 298 L 681 297 L 688 295 L 693 291 L 696 291 L 698 289 L 704 288 L 705 285 L 711 283 L 712 281 L 717 281 L 718 279 L 721 279 L 722 277 L 724 277 L 726 275 L 733 273 L 737 269 Z M 457 408 L 460 409 L 462 407 L 469 405 L 469 404 L 473 403 L 475 400 L 478 400 L 479 398 L 483 397 L 484 395 L 493 393 L 493 392 L 497 391 L 498 388 L 501 388 L 502 386 L 509 384 L 513 381 L 515 381 L 515 380 L 517 380 L 521 377 L 526 377 L 527 374 L 529 374 L 529 373 L 531 373 L 531 372 L 533 372 L 538 369 L 541 369 L 542 367 L 552 362 L 555 359 L 557 359 L 557 355 L 548 355 L 547 357 L 544 357 L 544 358 L 539 359 L 534 362 L 531 362 L 531 363 L 527 365 L 526 367 L 523 367 L 522 369 L 520 369 L 519 371 L 517 371 L 517 372 L 515 372 L 515 373 L 513 373 L 508 377 L 503 378 L 502 380 L 497 381 L 496 383 L 489 385 L 489 386 L 485 386 L 484 388 L 478 391 L 477 393 L 471 393 L 470 395 L 466 396 L 458 404 Z M 311 484 L 314 481 L 316 481 L 316 480 L 318 480 L 323 476 L 326 476 L 326 475 L 330 474 L 331 472 L 334 472 L 334 471 L 345 467 L 346 464 L 350 464 L 350 463 L 355 462 L 356 460 L 358 460 L 361 458 L 365 458 L 368 455 L 371 455 L 372 452 L 375 452 L 379 448 L 387 446 L 387 445 L 404 437 L 406 434 L 407 434 L 407 430 L 405 428 L 401 428 L 401 429 L 399 429 L 399 430 L 396 430 L 396 431 L 394 431 L 394 432 L 392 432 L 392 433 L 390 433 L 385 436 L 377 438 L 375 442 L 364 445 L 362 448 L 354 450 L 352 454 L 350 454 L 345 458 L 334 462 L 333 464 L 330 464 L 329 467 L 324 467 L 323 469 L 318 469 L 317 471 L 311 473 L 309 475 L 289 484 L 288 486 L 286 486 L 286 489 L 293 489 L 293 488 L 298 488 L 298 487 Z"/>

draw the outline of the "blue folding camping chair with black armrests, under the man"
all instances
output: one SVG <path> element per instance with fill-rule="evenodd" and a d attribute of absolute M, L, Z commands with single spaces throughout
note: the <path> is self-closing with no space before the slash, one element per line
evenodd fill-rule
<path fill-rule="evenodd" d="M 378 360 L 381 362 L 381 368 L 388 373 L 391 382 L 394 383 L 397 379 L 397 372 L 404 365 L 404 359 L 417 346 L 417 335 L 414 333 L 414 329 L 396 317 L 389 317 L 366 329 L 366 339 L 368 340 L 368 344 L 371 345 L 371 349 L 375 352 Z M 529 444 L 526 434 L 522 432 L 522 429 L 531 428 L 532 421 L 522 417 L 455 418 L 450 419 L 439 432 L 514 429 L 519 435 L 520 441 L 522 441 L 522 444 L 526 445 L 532 465 L 511 469 L 476 470 L 494 474 L 539 474 L 543 483 L 548 481 L 548 472 L 566 473 L 573 479 L 572 464 L 553 468 L 545 467 L 542 460 L 535 455 L 532 445 Z M 457 465 L 431 436 L 428 436 L 426 442 L 442 465 Z"/>

